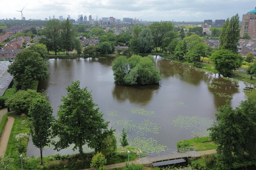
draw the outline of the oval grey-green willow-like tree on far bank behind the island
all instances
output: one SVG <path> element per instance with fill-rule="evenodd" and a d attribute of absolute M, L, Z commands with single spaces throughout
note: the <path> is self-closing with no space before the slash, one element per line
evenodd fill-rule
<path fill-rule="evenodd" d="M 154 45 L 151 30 L 143 28 L 138 37 L 139 50 L 141 53 L 150 53 Z"/>

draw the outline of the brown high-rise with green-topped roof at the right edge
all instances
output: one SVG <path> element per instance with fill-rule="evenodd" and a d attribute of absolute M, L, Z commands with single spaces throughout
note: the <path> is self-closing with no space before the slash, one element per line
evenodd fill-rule
<path fill-rule="evenodd" d="M 243 15 L 240 36 L 249 34 L 251 39 L 256 39 L 256 7 Z"/>

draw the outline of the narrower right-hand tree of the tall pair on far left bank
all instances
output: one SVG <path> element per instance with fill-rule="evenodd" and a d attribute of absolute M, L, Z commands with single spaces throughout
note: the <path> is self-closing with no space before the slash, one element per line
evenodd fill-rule
<path fill-rule="evenodd" d="M 61 39 L 62 39 L 62 47 L 66 50 L 66 55 L 69 55 L 69 51 L 74 49 L 74 36 L 75 30 L 73 24 L 67 18 L 65 21 L 61 23 Z"/>

